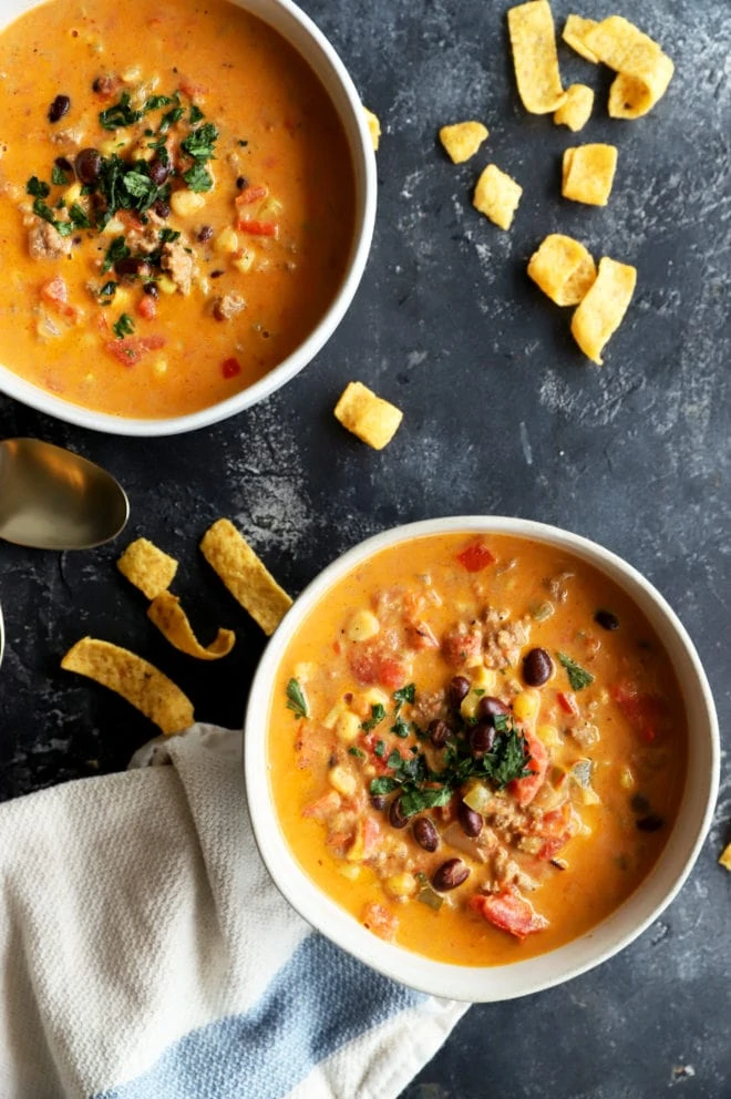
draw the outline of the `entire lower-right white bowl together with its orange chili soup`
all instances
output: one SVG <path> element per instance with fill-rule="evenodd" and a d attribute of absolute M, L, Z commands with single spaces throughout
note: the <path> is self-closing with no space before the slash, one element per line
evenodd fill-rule
<path fill-rule="evenodd" d="M 245 770 L 262 859 L 315 927 L 413 987 L 508 999 L 670 903 L 718 727 L 692 643 L 629 564 L 539 523 L 441 518 L 357 546 L 295 603 Z"/>

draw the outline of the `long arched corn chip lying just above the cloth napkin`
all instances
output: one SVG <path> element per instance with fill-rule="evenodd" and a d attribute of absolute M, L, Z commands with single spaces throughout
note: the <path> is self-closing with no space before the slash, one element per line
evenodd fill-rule
<path fill-rule="evenodd" d="M 82 637 L 70 648 L 61 667 L 87 676 L 126 698 L 166 737 L 193 725 L 193 702 L 172 679 L 136 653 L 95 637 Z"/>

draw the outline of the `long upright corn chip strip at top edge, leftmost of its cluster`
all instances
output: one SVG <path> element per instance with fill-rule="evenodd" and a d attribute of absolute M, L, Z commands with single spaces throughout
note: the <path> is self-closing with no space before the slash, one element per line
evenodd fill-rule
<path fill-rule="evenodd" d="M 509 8 L 507 29 L 523 106 L 532 114 L 555 111 L 566 93 L 560 83 L 554 17 L 548 0 L 531 0 Z"/>

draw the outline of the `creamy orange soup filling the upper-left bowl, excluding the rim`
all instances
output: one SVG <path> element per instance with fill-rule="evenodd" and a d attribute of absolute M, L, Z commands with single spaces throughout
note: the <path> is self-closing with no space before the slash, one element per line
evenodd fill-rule
<path fill-rule="evenodd" d="M 53 0 L 0 34 L 0 362 L 124 417 L 234 396 L 313 329 L 354 218 L 346 136 L 225 0 Z"/>

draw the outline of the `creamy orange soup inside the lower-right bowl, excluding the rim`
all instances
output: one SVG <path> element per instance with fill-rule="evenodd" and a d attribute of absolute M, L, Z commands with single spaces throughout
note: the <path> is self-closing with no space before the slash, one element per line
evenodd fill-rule
<path fill-rule="evenodd" d="M 500 965 L 587 932 L 648 874 L 683 787 L 670 661 L 589 565 L 425 537 L 338 583 L 271 699 L 272 797 L 302 867 L 375 935 Z"/>

